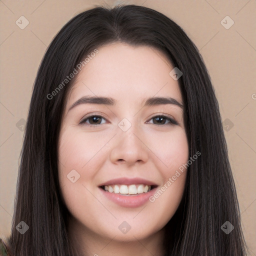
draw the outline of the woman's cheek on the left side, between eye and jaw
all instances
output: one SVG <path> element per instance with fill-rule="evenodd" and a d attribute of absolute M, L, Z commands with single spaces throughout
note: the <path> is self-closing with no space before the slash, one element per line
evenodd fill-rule
<path fill-rule="evenodd" d="M 111 136 L 111 131 L 99 135 L 84 130 L 77 131 L 72 126 L 61 132 L 58 146 L 58 178 L 64 200 L 74 212 L 81 210 L 81 201 L 90 203 L 89 191 L 92 191 L 96 170 L 101 168 L 101 159 L 107 150 L 104 145 Z"/>

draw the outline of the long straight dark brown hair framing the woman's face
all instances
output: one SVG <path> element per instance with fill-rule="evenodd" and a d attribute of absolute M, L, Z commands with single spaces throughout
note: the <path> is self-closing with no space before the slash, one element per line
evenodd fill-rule
<path fill-rule="evenodd" d="M 68 21 L 40 63 L 27 117 L 9 243 L 15 256 L 76 255 L 67 235 L 69 212 L 60 194 L 57 143 L 73 80 L 47 95 L 95 48 L 111 42 L 161 50 L 182 71 L 189 156 L 183 199 L 165 226 L 165 256 L 243 256 L 246 246 L 218 103 L 198 49 L 165 15 L 142 6 L 96 6 Z M 86 66 L 85 66 L 86 68 Z M 20 234 L 15 226 L 29 229 Z M 221 225 L 234 229 L 226 234 Z"/>

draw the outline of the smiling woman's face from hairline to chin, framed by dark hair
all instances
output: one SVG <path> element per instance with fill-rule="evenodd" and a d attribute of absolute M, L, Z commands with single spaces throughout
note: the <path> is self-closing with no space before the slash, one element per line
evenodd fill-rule
<path fill-rule="evenodd" d="M 61 121 L 58 175 L 84 235 L 143 239 L 175 213 L 188 143 L 172 69 L 154 48 L 112 43 L 77 74 Z M 89 99 L 96 96 L 103 98 Z"/>

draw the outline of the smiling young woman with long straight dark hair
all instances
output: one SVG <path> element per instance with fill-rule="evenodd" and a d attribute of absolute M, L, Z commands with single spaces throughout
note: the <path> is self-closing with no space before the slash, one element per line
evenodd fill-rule
<path fill-rule="evenodd" d="M 168 17 L 95 7 L 52 40 L 6 243 L 15 256 L 245 255 L 214 90 Z"/>

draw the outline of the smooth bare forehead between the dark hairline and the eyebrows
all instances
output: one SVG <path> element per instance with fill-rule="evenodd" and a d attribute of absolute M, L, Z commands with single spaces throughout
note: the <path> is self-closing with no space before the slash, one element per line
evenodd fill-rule
<path fill-rule="evenodd" d="M 172 68 L 165 54 L 153 47 L 119 42 L 101 46 L 75 77 L 67 106 L 83 95 L 133 103 L 151 96 L 171 96 L 181 102 L 178 82 L 169 75 Z"/>

